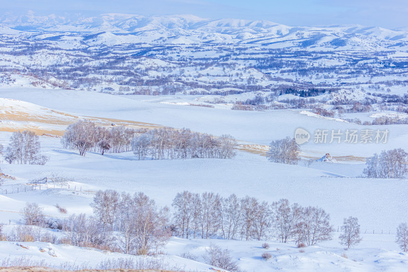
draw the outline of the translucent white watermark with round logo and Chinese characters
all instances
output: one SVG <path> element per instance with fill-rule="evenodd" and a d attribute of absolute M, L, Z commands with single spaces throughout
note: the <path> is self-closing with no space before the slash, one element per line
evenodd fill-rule
<path fill-rule="evenodd" d="M 388 129 L 316 129 L 313 133 L 315 144 L 386 144 Z M 298 145 L 309 142 L 311 134 L 303 128 L 295 130 L 295 141 Z"/>

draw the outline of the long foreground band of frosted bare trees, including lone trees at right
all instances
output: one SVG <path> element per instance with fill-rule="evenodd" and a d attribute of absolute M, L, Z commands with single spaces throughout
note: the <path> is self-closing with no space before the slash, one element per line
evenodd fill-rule
<path fill-rule="evenodd" d="M 47 241 L 79 247 L 94 247 L 124 254 L 146 255 L 165 246 L 171 236 L 181 238 L 218 238 L 241 240 L 274 239 L 295 242 L 298 247 L 313 246 L 331 240 L 334 228 L 330 215 L 319 207 L 302 207 L 281 199 L 268 204 L 257 198 L 235 194 L 223 198 L 213 192 L 177 193 L 169 207 L 157 208 L 155 201 L 139 192 L 133 196 L 112 189 L 98 191 L 90 204 L 93 215 L 72 214 L 65 220 L 49 217 L 36 203 L 27 203 L 21 210 L 25 225 L 18 225 L 4 240 Z M 66 209 L 56 207 L 60 212 Z M 41 228 L 64 231 L 64 237 L 50 237 Z M 339 236 L 347 248 L 360 243 L 360 225 L 356 217 L 344 219 Z M 397 228 L 396 242 L 408 251 L 408 227 Z"/>

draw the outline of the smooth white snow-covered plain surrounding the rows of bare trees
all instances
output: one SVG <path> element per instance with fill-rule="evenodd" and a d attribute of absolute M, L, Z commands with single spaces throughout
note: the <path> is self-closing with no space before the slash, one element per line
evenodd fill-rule
<path fill-rule="evenodd" d="M 215 135 L 228 133 L 240 143 L 261 145 L 286 136 L 293 137 L 298 127 L 310 132 L 317 128 L 363 128 L 330 118 L 300 114 L 299 111 L 244 112 L 225 110 L 221 106 L 208 108 L 188 105 L 202 100 L 200 96 L 132 97 L 82 91 L 10 88 L 2 89 L 1 97 L 33 103 L 31 110 L 34 112 L 46 107 L 73 116 L 115 118 L 175 128 L 189 127 Z M 21 105 L 21 102 L 15 100 L 8 103 Z M 24 105 L 29 111 L 30 104 Z M 370 129 L 377 128 L 372 127 Z M 339 233 L 335 232 L 333 240 L 305 248 L 305 252 L 301 253 L 294 243 L 268 241 L 270 249 L 265 250 L 261 248 L 263 241 L 172 238 L 163 249 L 166 254 L 161 258 L 185 270 L 206 271 L 211 266 L 202 263 L 202 254 L 213 242 L 231 250 L 234 260 L 247 271 L 405 271 L 408 256 L 400 252 L 394 240 L 398 224 L 408 221 L 408 182 L 406 179 L 358 177 L 364 169 L 364 157 L 383 149 L 408 149 L 406 125 L 387 128 L 390 130 L 387 144 L 329 145 L 310 142 L 302 145 L 303 160 L 298 166 L 274 164 L 264 156 L 244 151 L 238 151 L 234 159 L 138 161 L 132 152 L 104 156 L 88 152 L 82 157 L 75 151 L 64 150 L 58 138 L 40 137 L 42 152 L 50 157 L 45 166 L 1 164 L 2 171 L 16 179 L 6 179 L 0 187 L 0 223 L 17 224 L 21 220 L 20 210 L 26 202 L 39 203 L 49 216 L 63 217 L 80 212 L 91 214 L 89 204 L 94 192 L 106 188 L 130 193 L 144 192 L 156 201 L 158 207 L 170 206 L 175 194 L 184 190 L 196 193 L 211 191 L 224 197 L 235 193 L 238 197 L 249 195 L 268 202 L 287 198 L 291 203 L 297 202 L 302 206 L 324 208 L 330 213 L 331 224 L 336 230 L 342 225 L 344 217 L 358 217 L 363 241 L 356 248 L 345 251 L 338 242 Z M 0 132 L 0 144 L 7 145 L 10 135 L 11 132 Z M 327 152 L 348 159 L 339 159 L 338 164 L 306 163 L 308 157 L 320 158 Z M 62 188 L 42 186 L 41 191 L 36 187 L 35 191 L 25 193 L 20 189 L 31 187 L 27 183 L 50 173 L 59 173 L 70 181 Z M 19 193 L 15 193 L 17 186 Z M 7 195 L 4 194 L 5 189 L 8 189 Z M 57 203 L 67 209 L 66 215 L 58 212 L 55 207 Z M 10 228 L 7 226 L 5 230 Z M 61 244 L 23 244 L 29 249 L 19 247 L 15 242 L 0 242 L 0 258 L 24 255 L 35 260 L 45 259 L 47 264 L 54 266 L 69 262 L 95 267 L 107 258 L 129 257 Z M 40 248 L 52 248 L 57 257 L 40 252 Z M 262 260 L 264 251 L 272 254 L 269 261 Z M 196 255 L 198 262 L 176 256 L 185 252 Z M 348 259 L 342 257 L 343 253 Z"/>

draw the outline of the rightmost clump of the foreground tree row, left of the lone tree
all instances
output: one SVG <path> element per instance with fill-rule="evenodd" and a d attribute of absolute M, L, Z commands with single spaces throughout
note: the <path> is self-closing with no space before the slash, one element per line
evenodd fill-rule
<path fill-rule="evenodd" d="M 331 240 L 334 231 L 330 226 L 330 215 L 321 208 L 310 206 L 302 210 L 296 229 L 299 234 L 297 242 L 305 242 L 308 246 Z"/>

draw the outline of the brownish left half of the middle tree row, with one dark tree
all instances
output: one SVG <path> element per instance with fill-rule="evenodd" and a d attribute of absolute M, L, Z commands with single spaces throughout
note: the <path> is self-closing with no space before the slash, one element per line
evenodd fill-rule
<path fill-rule="evenodd" d="M 66 149 L 78 150 L 81 156 L 87 151 L 119 153 L 132 150 L 132 139 L 144 129 L 114 126 L 111 129 L 96 126 L 94 122 L 80 120 L 70 124 L 61 144 Z"/>

